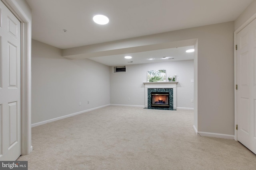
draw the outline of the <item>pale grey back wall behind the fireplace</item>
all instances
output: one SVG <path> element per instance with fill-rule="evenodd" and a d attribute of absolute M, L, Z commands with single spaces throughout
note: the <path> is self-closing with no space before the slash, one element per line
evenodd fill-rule
<path fill-rule="evenodd" d="M 166 77 L 176 74 L 177 107 L 194 107 L 190 102 L 194 99 L 194 83 L 190 82 L 194 79 L 193 60 L 127 65 L 127 72 L 118 74 L 112 74 L 111 67 L 110 104 L 145 106 L 143 82 L 147 82 L 148 70 L 166 70 Z"/>

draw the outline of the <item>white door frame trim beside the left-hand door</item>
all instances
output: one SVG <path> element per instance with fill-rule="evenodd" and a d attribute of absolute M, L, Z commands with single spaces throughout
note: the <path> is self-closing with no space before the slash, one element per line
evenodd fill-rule
<path fill-rule="evenodd" d="M 2 0 L 20 21 L 21 29 L 21 155 L 29 154 L 31 145 L 31 13 L 16 0 Z M 25 9 L 26 10 L 26 9 Z M 28 8 L 31 12 L 31 10 Z M 28 16 L 30 15 L 30 16 Z"/>

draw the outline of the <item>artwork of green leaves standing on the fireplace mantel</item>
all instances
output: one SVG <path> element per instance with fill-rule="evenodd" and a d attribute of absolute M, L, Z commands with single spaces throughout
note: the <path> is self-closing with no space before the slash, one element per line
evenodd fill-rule
<path fill-rule="evenodd" d="M 148 71 L 147 82 L 165 82 L 166 70 L 150 70 Z"/>

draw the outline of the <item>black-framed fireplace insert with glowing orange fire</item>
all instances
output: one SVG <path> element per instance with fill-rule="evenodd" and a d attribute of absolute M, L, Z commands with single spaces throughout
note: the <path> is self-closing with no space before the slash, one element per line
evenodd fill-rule
<path fill-rule="evenodd" d="M 169 92 L 151 92 L 151 107 L 169 108 Z"/>

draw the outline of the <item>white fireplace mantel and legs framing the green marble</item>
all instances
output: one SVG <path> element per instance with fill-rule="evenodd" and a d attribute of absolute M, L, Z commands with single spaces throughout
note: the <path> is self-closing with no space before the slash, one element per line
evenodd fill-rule
<path fill-rule="evenodd" d="M 176 110 L 178 82 L 143 82 L 145 85 L 145 107 L 148 108 L 148 88 L 172 88 L 173 89 L 173 109 Z"/>

